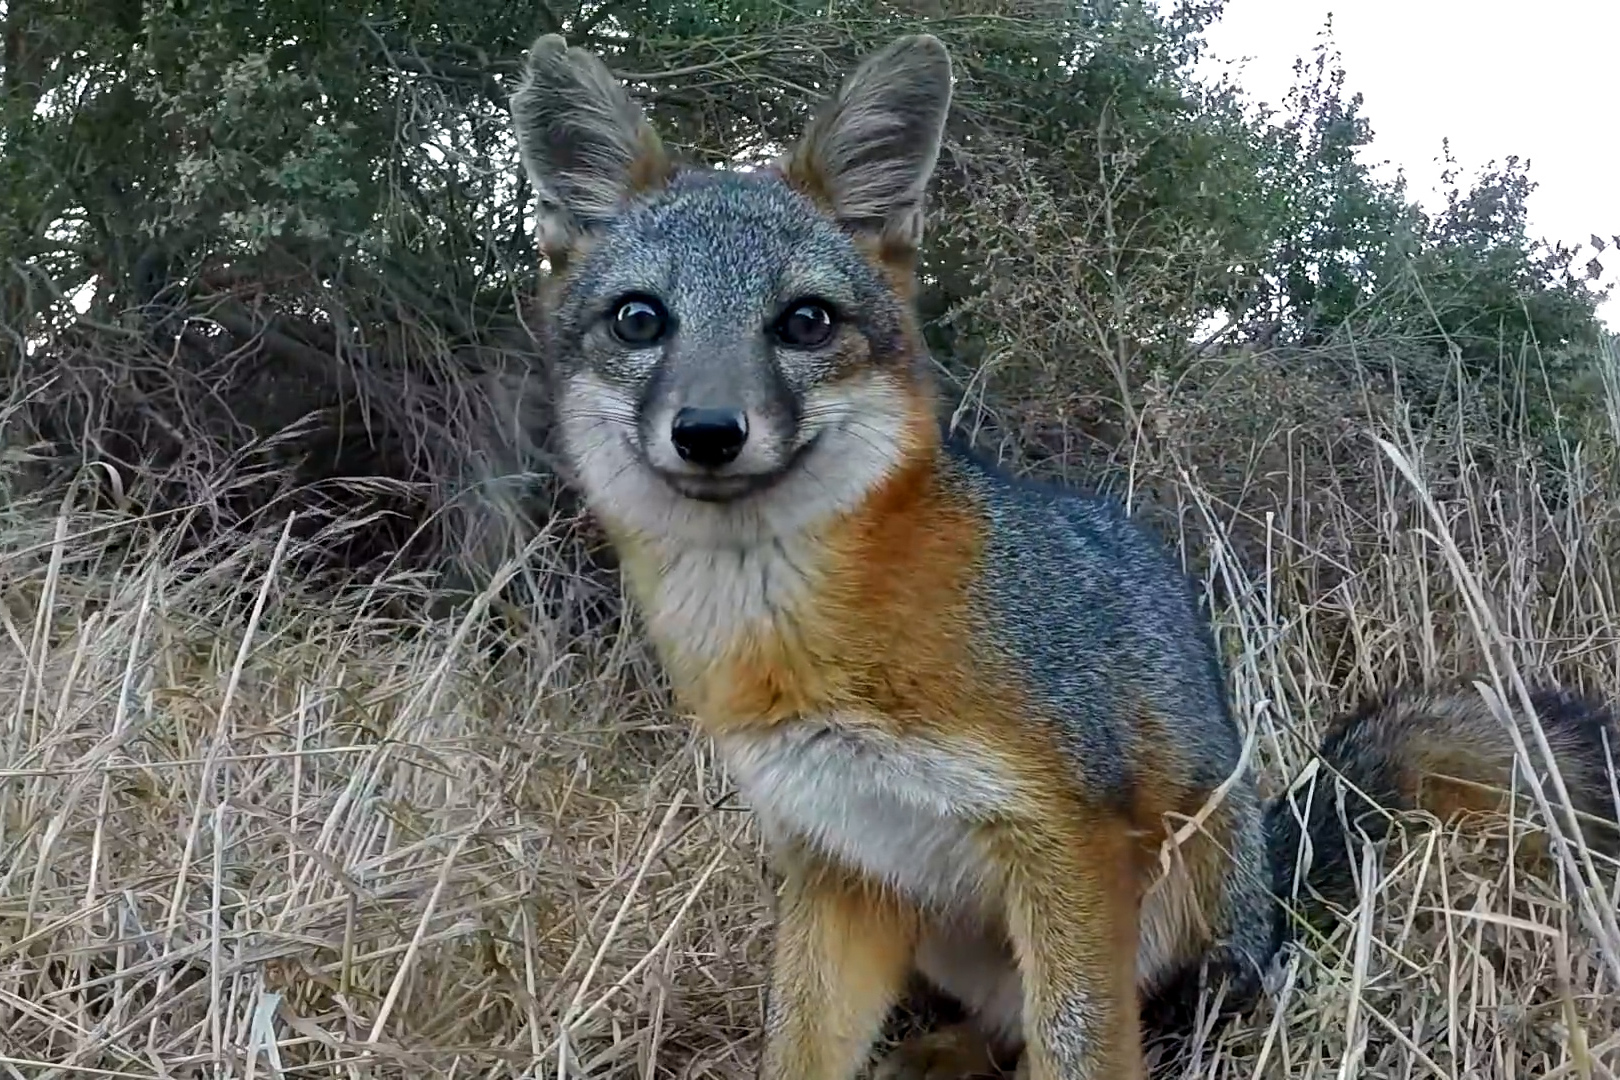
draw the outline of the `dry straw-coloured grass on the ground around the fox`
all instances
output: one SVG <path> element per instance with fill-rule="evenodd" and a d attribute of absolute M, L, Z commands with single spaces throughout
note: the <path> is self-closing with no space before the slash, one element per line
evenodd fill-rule
<path fill-rule="evenodd" d="M 1620 696 L 1612 439 L 1554 495 L 1377 403 L 1194 471 L 1243 400 L 1183 403 L 1132 468 L 1215 538 L 1200 562 L 1268 777 L 1395 678 Z M 1324 460 L 1349 479 L 1320 486 Z M 1233 461 L 1272 463 L 1241 507 L 1200 479 Z M 334 601 L 288 573 L 279 531 L 175 555 L 157 523 L 3 513 L 0 1075 L 752 1075 L 768 878 L 630 631 L 400 619 L 431 610 L 411 581 Z M 1221 542 L 1238 531 L 1260 562 Z M 535 559 L 564 546 L 546 533 Z M 1171 1075 L 1620 1072 L 1620 952 L 1576 902 L 1591 882 L 1497 847 L 1398 836 L 1277 999 Z"/>

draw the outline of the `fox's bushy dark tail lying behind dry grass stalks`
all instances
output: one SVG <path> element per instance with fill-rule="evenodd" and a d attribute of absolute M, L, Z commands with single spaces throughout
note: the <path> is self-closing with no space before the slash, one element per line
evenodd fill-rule
<path fill-rule="evenodd" d="M 1560 690 L 1537 690 L 1531 703 L 1570 801 L 1581 814 L 1583 837 L 1592 850 L 1620 852 L 1612 772 L 1620 769 L 1620 729 L 1614 714 Z M 1541 766 L 1534 733 L 1520 724 L 1529 756 Z M 1516 755 L 1510 732 L 1471 687 L 1405 690 L 1371 701 L 1333 724 L 1320 756 L 1324 769 L 1314 785 L 1299 785 L 1267 810 L 1273 892 L 1285 902 L 1298 897 L 1307 910 L 1319 900 L 1341 908 L 1354 905 L 1359 847 L 1353 837 L 1359 831 L 1372 840 L 1382 839 L 1388 816 L 1379 806 L 1426 810 L 1445 821 L 1458 813 L 1507 810 L 1515 792 L 1529 797 L 1523 777 L 1516 789 L 1513 784 Z M 1537 771 L 1568 834 L 1555 789 L 1549 787 L 1545 771 Z M 1293 920 L 1280 913 L 1278 936 L 1290 936 L 1290 926 Z"/>

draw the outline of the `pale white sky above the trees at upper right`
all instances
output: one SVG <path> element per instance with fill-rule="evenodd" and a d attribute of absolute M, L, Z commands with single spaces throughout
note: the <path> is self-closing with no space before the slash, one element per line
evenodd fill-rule
<path fill-rule="evenodd" d="M 1620 280 L 1620 0 L 1228 0 L 1212 62 L 1243 62 L 1239 86 L 1280 105 L 1328 13 L 1371 159 L 1403 167 L 1413 198 L 1437 204 L 1445 138 L 1464 175 L 1518 154 L 1539 185 L 1531 232 L 1583 244 L 1580 262 L 1597 233 L 1601 282 Z M 1620 330 L 1620 296 L 1601 314 Z"/>

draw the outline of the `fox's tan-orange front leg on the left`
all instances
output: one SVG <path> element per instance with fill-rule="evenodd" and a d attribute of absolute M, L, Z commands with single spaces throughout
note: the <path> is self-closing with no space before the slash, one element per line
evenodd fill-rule
<path fill-rule="evenodd" d="M 899 1001 L 917 915 L 813 860 L 787 868 L 776 920 L 760 1080 L 852 1080 Z"/>

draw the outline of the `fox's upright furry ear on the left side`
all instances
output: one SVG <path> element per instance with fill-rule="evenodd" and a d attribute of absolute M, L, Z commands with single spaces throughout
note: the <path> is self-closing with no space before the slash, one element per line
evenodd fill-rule
<path fill-rule="evenodd" d="M 539 194 L 539 246 L 554 257 L 669 178 L 663 142 L 624 84 L 559 34 L 528 50 L 512 130 Z"/>

